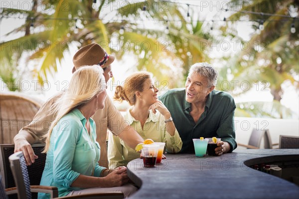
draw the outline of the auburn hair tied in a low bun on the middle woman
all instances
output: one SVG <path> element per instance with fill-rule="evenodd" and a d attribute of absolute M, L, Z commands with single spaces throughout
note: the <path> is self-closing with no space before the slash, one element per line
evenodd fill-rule
<path fill-rule="evenodd" d="M 149 78 L 151 78 L 151 74 L 148 72 L 133 73 L 125 80 L 124 87 L 116 87 L 114 99 L 117 101 L 126 100 L 130 105 L 134 105 L 136 103 L 135 92 L 143 92 L 144 83 Z"/>

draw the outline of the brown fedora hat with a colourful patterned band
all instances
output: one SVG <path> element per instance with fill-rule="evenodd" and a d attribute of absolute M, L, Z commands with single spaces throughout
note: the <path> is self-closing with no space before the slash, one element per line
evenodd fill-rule
<path fill-rule="evenodd" d="M 108 55 L 106 51 L 97 43 L 88 44 L 80 48 L 73 57 L 73 73 L 81 66 L 99 65 L 103 69 L 109 66 L 115 57 Z"/>

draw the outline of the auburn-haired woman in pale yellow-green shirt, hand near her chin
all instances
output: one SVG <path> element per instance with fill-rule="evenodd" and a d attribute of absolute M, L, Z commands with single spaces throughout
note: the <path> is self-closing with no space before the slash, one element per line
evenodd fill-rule
<path fill-rule="evenodd" d="M 181 150 L 182 141 L 174 126 L 170 112 L 158 100 L 158 89 L 154 87 L 148 72 L 137 72 L 129 76 L 124 87 L 118 86 L 114 99 L 126 100 L 133 105 L 125 115 L 125 120 L 144 138 L 154 142 L 165 142 L 169 153 Z M 158 110 L 158 111 L 157 111 Z M 128 162 L 140 157 L 140 153 L 127 146 L 119 137 L 109 133 L 109 168 L 127 166 Z"/>

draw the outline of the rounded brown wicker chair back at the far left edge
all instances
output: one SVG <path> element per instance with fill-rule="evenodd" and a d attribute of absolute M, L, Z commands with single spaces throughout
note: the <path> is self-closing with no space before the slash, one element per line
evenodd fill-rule
<path fill-rule="evenodd" d="M 12 144 L 13 137 L 32 121 L 41 105 L 41 100 L 33 100 L 19 93 L 1 93 L 0 144 Z"/>

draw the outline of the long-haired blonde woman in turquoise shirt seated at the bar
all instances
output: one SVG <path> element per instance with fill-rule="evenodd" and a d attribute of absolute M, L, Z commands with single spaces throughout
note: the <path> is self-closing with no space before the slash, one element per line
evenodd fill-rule
<path fill-rule="evenodd" d="M 57 116 L 46 135 L 46 166 L 40 185 L 55 186 L 59 197 L 137 189 L 128 182 L 126 168 L 99 166 L 100 145 L 91 116 L 104 108 L 107 96 L 103 69 L 83 66 L 72 76 L 69 90 L 55 102 Z M 124 186 L 123 186 L 124 185 Z M 120 187 L 122 186 L 122 187 Z M 38 198 L 49 198 L 39 194 Z"/>

